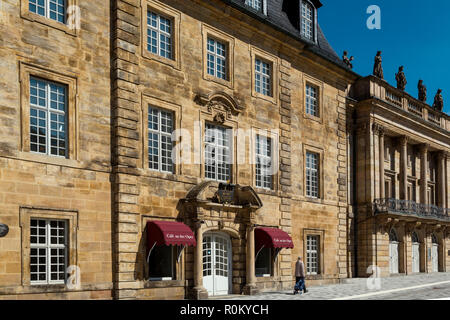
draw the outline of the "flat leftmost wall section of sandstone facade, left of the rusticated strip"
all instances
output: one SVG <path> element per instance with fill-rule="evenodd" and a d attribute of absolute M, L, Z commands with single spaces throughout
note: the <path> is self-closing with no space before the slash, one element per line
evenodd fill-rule
<path fill-rule="evenodd" d="M 69 3 L 1 1 L 0 299 L 111 297 L 109 1 Z"/>

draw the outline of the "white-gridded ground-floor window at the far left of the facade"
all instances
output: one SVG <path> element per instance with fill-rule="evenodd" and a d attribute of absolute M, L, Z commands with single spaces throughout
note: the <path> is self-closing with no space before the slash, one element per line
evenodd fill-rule
<path fill-rule="evenodd" d="M 67 223 L 64 220 L 31 219 L 31 284 L 63 284 L 67 269 Z"/>

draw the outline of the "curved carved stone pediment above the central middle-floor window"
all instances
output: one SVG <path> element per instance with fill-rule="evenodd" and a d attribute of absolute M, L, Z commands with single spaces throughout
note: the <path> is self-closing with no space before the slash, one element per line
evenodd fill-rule
<path fill-rule="evenodd" d="M 235 120 L 245 107 L 225 92 L 210 94 L 197 94 L 195 102 L 205 108 L 204 112 L 214 116 L 214 121 L 224 123 L 226 120 Z"/>

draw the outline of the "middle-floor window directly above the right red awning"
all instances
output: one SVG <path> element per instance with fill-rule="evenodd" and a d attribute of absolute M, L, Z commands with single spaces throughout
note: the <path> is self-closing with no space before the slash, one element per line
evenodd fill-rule
<path fill-rule="evenodd" d="M 272 189 L 272 139 L 256 135 L 256 186 Z"/>

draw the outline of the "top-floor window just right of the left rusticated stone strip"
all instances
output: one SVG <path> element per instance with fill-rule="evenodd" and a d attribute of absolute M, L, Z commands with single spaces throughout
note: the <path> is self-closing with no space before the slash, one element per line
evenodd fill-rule
<path fill-rule="evenodd" d="M 173 59 L 172 21 L 155 12 L 147 12 L 147 49 L 163 58 Z"/>

